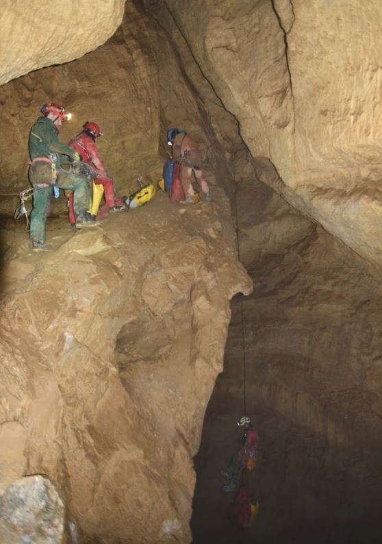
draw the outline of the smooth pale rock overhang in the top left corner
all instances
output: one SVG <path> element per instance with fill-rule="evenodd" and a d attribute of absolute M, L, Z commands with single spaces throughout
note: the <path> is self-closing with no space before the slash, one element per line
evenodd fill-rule
<path fill-rule="evenodd" d="M 0 85 L 102 45 L 123 18 L 125 0 L 4 0 L 0 15 Z"/>

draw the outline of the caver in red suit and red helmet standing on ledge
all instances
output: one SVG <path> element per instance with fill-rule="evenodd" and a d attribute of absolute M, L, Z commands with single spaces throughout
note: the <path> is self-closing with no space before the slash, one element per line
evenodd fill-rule
<path fill-rule="evenodd" d="M 99 205 L 104 193 L 105 206 L 108 211 L 117 212 L 125 209 L 125 206 L 120 206 L 116 203 L 114 180 L 110 175 L 107 175 L 105 166 L 103 166 L 103 162 L 99 156 L 99 151 L 95 143 L 99 136 L 102 136 L 102 132 L 97 123 L 86 121 L 82 127 L 82 132 L 77 134 L 69 142 L 69 145 L 77 151 L 81 160 L 86 162 L 92 169 L 93 197 L 92 206 L 89 210 L 92 221 L 95 220 L 98 214 Z M 71 199 L 69 199 L 69 206 L 71 206 Z M 69 214 L 71 214 L 71 211 L 69 211 Z"/>

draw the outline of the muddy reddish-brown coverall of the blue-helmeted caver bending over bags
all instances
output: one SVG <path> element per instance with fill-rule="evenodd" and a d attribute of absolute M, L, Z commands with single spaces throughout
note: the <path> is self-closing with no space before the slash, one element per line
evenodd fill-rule
<path fill-rule="evenodd" d="M 180 177 L 186 198 L 194 195 L 191 184 L 192 173 L 201 186 L 203 195 L 207 195 L 209 188 L 201 170 L 201 153 L 188 134 L 180 133 L 174 138 L 173 159 L 178 160 L 179 158 L 182 158 Z"/>

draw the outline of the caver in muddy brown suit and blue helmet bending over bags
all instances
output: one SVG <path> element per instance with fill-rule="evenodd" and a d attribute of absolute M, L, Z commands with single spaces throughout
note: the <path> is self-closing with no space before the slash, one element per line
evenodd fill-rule
<path fill-rule="evenodd" d="M 186 195 L 186 200 L 182 203 L 194 203 L 194 189 L 191 182 L 192 173 L 201 187 L 203 200 L 211 200 L 208 184 L 201 169 L 201 152 L 196 143 L 185 130 L 177 128 L 170 128 L 167 131 L 167 143 L 173 146 L 173 159 L 181 164 L 181 184 Z"/>

